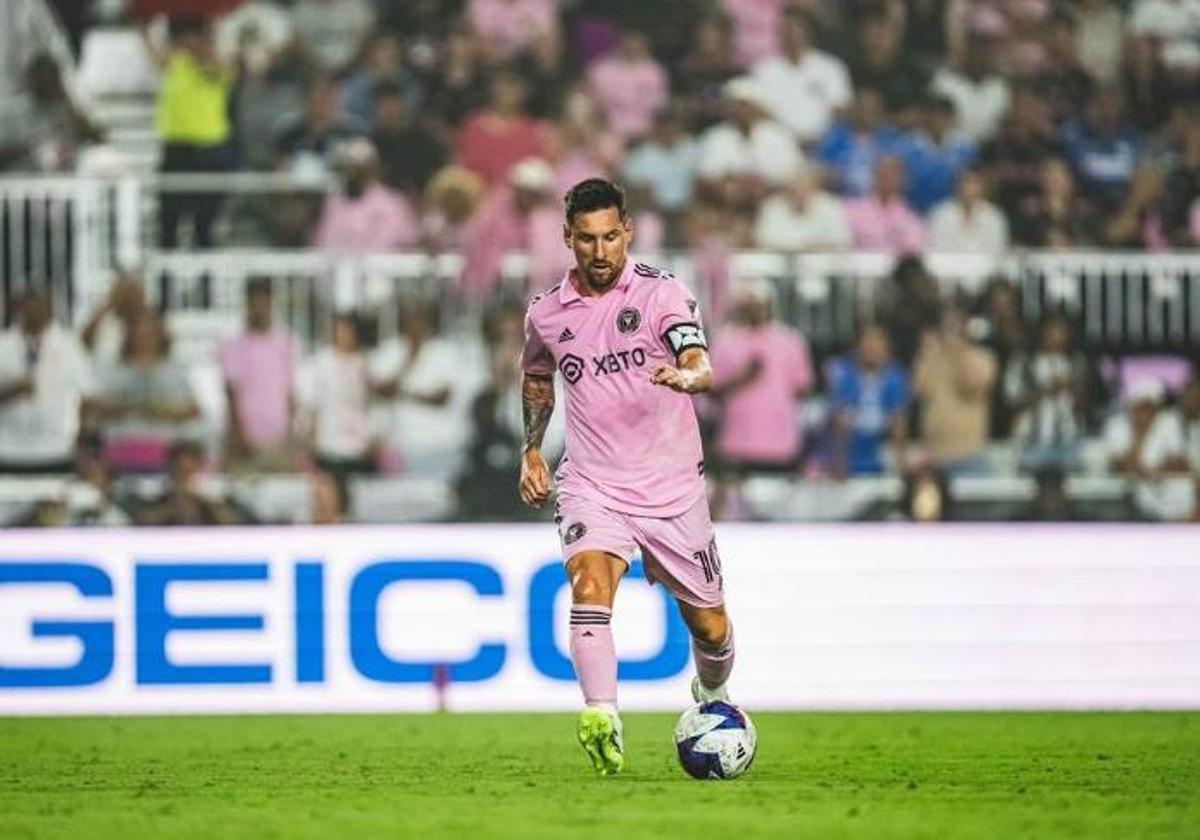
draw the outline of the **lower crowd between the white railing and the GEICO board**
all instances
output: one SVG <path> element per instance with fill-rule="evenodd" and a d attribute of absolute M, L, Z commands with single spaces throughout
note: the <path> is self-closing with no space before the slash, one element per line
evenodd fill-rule
<path fill-rule="evenodd" d="M 241 329 L 211 360 L 223 407 L 214 414 L 143 289 L 119 278 L 79 335 L 30 292 L 0 334 L 0 474 L 73 473 L 94 488 L 88 499 L 114 505 L 85 508 L 82 520 L 50 506 L 52 521 L 119 520 L 113 476 L 163 474 L 176 490 L 130 518 L 244 521 L 236 506 L 200 504 L 190 482 L 202 467 L 311 476 L 319 521 L 347 516 L 365 475 L 454 484 L 463 518 L 532 515 L 514 490 L 520 306 L 487 311 L 481 342 L 444 331 L 421 299 L 402 306 L 389 337 L 377 313 L 341 312 L 306 349 L 280 323 L 271 281 L 253 277 Z M 742 485 L 760 475 L 894 475 L 944 494 L 947 480 L 1024 474 L 1061 502 L 1063 479 L 1086 473 L 1129 479 L 1129 516 L 1200 518 L 1194 364 L 1086 355 L 1062 314 L 1022 320 L 1007 282 L 970 307 L 942 299 L 918 259 L 902 260 L 881 295 L 854 346 L 817 355 L 775 316 L 773 283 L 734 283 L 727 317 L 709 324 L 714 388 L 696 401 L 720 515 L 740 516 Z M 560 428 L 547 440 L 560 446 Z M 1087 512 L 1060 504 L 1028 515 Z"/>

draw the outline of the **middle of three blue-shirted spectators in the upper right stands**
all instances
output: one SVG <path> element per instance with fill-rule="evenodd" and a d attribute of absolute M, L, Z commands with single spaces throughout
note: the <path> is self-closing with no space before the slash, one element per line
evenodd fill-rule
<path fill-rule="evenodd" d="M 954 131 L 955 121 L 954 103 L 934 96 L 923 103 L 918 130 L 906 137 L 906 197 L 922 215 L 954 196 L 959 175 L 978 155 L 976 145 Z"/>

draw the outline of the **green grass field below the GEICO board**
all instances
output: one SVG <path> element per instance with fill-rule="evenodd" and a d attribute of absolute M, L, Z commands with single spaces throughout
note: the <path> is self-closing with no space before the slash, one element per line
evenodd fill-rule
<path fill-rule="evenodd" d="M 733 782 L 626 715 L 0 719 L 0 838 L 1200 838 L 1200 714 L 761 714 Z"/>

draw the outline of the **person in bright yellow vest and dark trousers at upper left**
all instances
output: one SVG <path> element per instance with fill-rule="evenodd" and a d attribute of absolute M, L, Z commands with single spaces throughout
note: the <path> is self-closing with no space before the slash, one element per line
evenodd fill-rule
<path fill-rule="evenodd" d="M 217 60 L 208 20 L 172 20 L 155 115 L 162 143 L 164 174 L 215 173 L 234 168 L 229 92 L 233 73 Z M 221 193 L 186 192 L 164 185 L 161 196 L 160 244 L 179 244 L 180 226 L 192 223 L 192 246 L 212 247 L 212 222 Z"/>

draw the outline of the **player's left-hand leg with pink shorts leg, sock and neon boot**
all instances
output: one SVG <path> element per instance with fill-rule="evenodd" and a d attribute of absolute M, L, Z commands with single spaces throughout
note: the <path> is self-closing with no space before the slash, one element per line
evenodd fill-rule
<path fill-rule="evenodd" d="M 578 739 L 593 767 L 608 775 L 625 764 L 612 602 L 636 545 L 623 517 L 584 499 L 560 496 L 556 521 L 571 584 L 571 662 L 586 703 Z"/>

